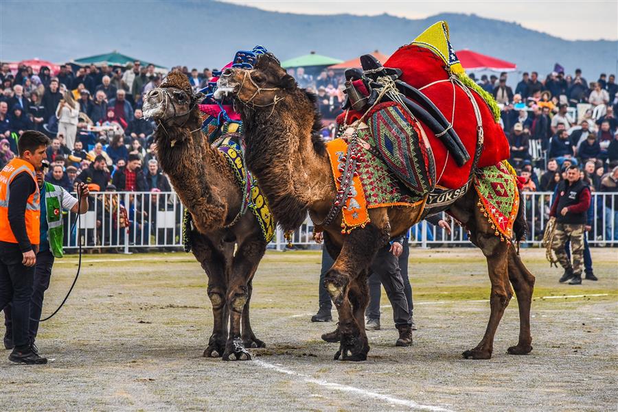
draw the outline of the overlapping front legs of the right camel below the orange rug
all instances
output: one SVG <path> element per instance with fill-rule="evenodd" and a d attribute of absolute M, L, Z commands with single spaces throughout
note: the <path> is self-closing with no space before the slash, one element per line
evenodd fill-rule
<path fill-rule="evenodd" d="M 365 280 L 363 274 L 366 274 L 378 248 L 385 243 L 385 235 L 373 224 L 352 230 L 346 235 L 341 253 L 325 276 L 326 290 L 339 313 L 340 342 L 334 359 L 339 359 L 339 356 L 343 361 L 367 359 L 369 341 L 363 315 L 360 315 L 367 306 L 367 287 L 361 287 L 359 282 Z M 354 304 L 358 307 L 355 308 Z M 357 322 L 357 316 L 361 317 L 361 322 Z"/>

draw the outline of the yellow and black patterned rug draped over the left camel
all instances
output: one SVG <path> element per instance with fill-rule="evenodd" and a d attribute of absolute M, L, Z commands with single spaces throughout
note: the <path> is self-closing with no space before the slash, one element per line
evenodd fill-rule
<path fill-rule="evenodd" d="M 244 165 L 242 136 L 240 134 L 225 134 L 214 142 L 213 146 L 218 149 L 221 156 L 227 160 L 234 171 L 238 189 L 243 197 L 240 213 L 244 215 L 247 210 L 251 210 L 260 224 L 264 240 L 270 242 L 275 235 L 275 220 L 271 214 L 271 209 L 268 207 L 266 197 L 258 187 L 258 180 L 251 175 L 249 169 Z M 185 208 L 183 215 L 183 246 L 185 252 L 191 250 L 191 230 L 192 217 L 189 210 Z"/>

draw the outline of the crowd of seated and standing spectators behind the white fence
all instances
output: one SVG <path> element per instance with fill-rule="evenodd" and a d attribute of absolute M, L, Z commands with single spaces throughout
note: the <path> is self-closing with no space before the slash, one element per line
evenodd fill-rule
<path fill-rule="evenodd" d="M 195 90 L 212 77 L 209 69 L 174 69 L 183 71 Z M 345 97 L 343 73 L 325 69 L 309 75 L 302 67 L 288 73 L 316 93 L 327 119 L 323 135 L 329 138 Z M 574 75 L 552 72 L 545 80 L 536 72 L 523 73 L 515 90 L 507 86 L 507 73 L 470 77 L 498 101 L 510 162 L 525 178 L 527 191 L 554 191 L 569 165 L 582 167 L 593 192 L 618 191 L 615 75 L 602 73 L 589 83 L 579 69 Z M 15 156 L 21 133 L 34 129 L 52 139 L 49 182 L 69 191 L 76 182 L 102 192 L 170 191 L 154 154 L 154 124 L 141 112 L 142 97 L 161 80 L 154 65 L 137 60 L 127 67 L 65 64 L 56 75 L 46 66 L 38 73 L 30 66 L 11 73 L 8 64 L 0 64 L 0 168 Z M 605 200 L 595 207 L 618 221 L 618 199 Z M 618 239 L 617 233 L 610 235 Z"/>

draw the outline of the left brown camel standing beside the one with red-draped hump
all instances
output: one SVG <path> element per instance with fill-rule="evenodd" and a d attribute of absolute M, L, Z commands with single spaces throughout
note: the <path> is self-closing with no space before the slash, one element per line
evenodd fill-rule
<path fill-rule="evenodd" d="M 248 360 L 245 347 L 266 346 L 249 322 L 251 282 L 266 241 L 253 213 L 240 215 L 242 194 L 234 172 L 202 133 L 197 104 L 203 97 L 192 92 L 185 75 L 172 72 L 146 94 L 144 115 L 158 124 L 157 158 L 191 213 L 192 252 L 208 276 L 214 326 L 204 356 Z"/>

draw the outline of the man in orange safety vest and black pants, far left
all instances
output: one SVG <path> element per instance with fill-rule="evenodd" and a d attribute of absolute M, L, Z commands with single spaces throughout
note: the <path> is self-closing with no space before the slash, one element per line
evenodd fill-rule
<path fill-rule="evenodd" d="M 15 363 L 47 363 L 32 350 L 28 326 L 40 241 L 41 203 L 35 171 L 41 170 L 47 158 L 48 143 L 41 132 L 23 132 L 17 142 L 19 157 L 0 171 L 0 308 L 12 304 L 15 348 L 9 359 Z"/>

